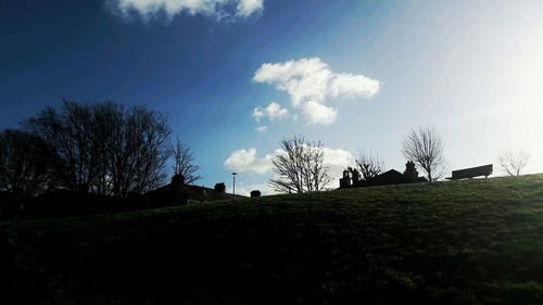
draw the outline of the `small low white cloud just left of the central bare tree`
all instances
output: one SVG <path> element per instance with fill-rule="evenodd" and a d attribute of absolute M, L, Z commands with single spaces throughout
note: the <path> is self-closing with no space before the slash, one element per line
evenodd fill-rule
<path fill-rule="evenodd" d="M 267 154 L 264 157 L 256 157 L 256 149 L 241 149 L 233 151 L 225 161 L 225 166 L 238 170 L 240 173 L 256 173 L 265 174 L 272 169 L 272 155 Z"/>

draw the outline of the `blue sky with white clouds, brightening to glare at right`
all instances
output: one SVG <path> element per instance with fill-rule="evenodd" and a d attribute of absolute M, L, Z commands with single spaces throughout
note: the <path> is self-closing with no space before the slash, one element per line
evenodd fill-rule
<path fill-rule="evenodd" d="M 449 173 L 542 173 L 543 1 L 0 0 L 0 129 L 63 98 L 166 112 L 198 183 L 243 194 L 294 135 L 334 178 L 362 151 L 403 171 L 418 127 Z"/>

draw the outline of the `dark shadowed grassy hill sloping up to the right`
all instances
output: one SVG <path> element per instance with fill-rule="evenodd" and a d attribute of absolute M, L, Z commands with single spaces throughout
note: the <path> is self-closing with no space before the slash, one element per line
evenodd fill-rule
<path fill-rule="evenodd" d="M 2 304 L 543 304 L 543 176 L 0 225 Z"/>

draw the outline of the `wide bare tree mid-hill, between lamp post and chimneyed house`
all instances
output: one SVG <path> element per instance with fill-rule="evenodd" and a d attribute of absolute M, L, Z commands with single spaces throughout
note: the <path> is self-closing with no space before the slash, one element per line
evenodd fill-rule
<path fill-rule="evenodd" d="M 311 142 L 301 136 L 283 139 L 272 160 L 276 175 L 269 185 L 279 192 L 321 191 L 331 180 L 324 162 L 321 142 Z"/>

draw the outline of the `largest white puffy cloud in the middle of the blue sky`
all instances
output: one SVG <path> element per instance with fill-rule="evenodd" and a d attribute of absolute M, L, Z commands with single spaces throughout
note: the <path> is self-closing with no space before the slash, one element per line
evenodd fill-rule
<path fill-rule="evenodd" d="M 254 74 L 253 81 L 275 85 L 289 94 L 292 107 L 301 110 L 310 124 L 328 125 L 338 111 L 326 105 L 330 99 L 370 98 L 380 82 L 364 75 L 334 73 L 318 58 L 283 63 L 265 63 Z"/>

